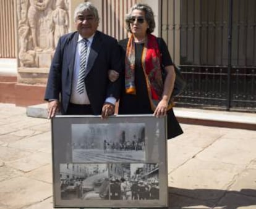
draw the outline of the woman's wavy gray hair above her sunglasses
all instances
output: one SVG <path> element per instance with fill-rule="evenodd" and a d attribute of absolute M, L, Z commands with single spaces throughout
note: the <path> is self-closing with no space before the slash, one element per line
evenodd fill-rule
<path fill-rule="evenodd" d="M 134 9 L 139 9 L 145 12 L 145 18 L 146 21 L 148 23 L 148 29 L 147 29 L 147 33 L 152 33 L 155 30 L 156 27 L 156 23 L 155 23 L 155 18 L 154 18 L 154 12 L 151 9 L 150 6 L 148 6 L 147 4 L 134 4 L 134 6 L 132 6 L 130 8 L 129 13 L 126 15 L 126 29 L 127 31 L 129 31 L 130 33 L 132 32 L 130 30 L 130 17 L 132 17 L 132 11 Z"/>

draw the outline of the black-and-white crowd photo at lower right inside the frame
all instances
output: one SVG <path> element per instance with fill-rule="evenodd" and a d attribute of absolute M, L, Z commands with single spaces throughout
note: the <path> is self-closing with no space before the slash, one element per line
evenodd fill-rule
<path fill-rule="evenodd" d="M 111 200 L 158 200 L 158 163 L 112 163 L 109 165 Z"/>

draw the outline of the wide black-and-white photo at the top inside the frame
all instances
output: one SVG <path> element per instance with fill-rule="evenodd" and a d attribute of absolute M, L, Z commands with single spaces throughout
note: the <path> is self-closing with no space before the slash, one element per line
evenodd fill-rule
<path fill-rule="evenodd" d="M 145 162 L 145 124 L 73 124 L 72 161 Z"/>

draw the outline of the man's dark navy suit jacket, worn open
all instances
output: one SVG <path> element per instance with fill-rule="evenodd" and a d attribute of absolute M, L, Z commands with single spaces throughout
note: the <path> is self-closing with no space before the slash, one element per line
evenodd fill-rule
<path fill-rule="evenodd" d="M 78 38 L 79 33 L 74 32 L 59 39 L 49 70 L 45 100 L 60 100 L 62 114 L 67 112 L 69 105 Z M 120 48 L 116 39 L 96 31 L 88 57 L 88 74 L 85 77 L 88 98 L 95 115 L 101 114 L 107 97 L 119 99 L 121 79 L 109 81 L 109 69 L 121 74 Z"/>

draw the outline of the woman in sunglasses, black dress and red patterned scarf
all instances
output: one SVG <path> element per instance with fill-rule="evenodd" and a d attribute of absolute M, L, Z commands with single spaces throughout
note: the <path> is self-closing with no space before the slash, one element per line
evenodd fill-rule
<path fill-rule="evenodd" d="M 126 17 L 130 38 L 119 41 L 125 54 L 124 90 L 119 100 L 119 114 L 168 116 L 168 139 L 182 134 L 181 126 L 169 103 L 175 72 L 168 47 L 162 38 L 151 35 L 155 29 L 152 9 L 135 4 Z M 166 72 L 162 79 L 161 65 Z"/>

